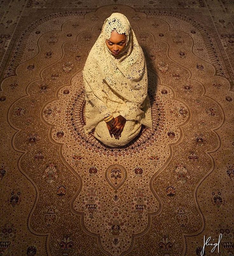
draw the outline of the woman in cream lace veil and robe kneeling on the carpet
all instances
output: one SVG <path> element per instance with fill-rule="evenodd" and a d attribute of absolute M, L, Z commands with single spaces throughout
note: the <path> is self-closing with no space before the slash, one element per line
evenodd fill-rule
<path fill-rule="evenodd" d="M 112 13 L 83 69 L 86 91 L 84 132 L 110 147 L 124 146 L 153 128 L 144 53 L 127 17 Z M 113 136 L 114 135 L 114 136 Z"/>

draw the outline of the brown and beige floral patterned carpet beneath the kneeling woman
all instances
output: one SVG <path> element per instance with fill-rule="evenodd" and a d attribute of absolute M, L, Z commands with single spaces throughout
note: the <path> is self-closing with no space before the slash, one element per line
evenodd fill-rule
<path fill-rule="evenodd" d="M 0 255 L 233 255 L 232 1 L 1 1 Z M 153 129 L 86 137 L 82 69 L 127 16 Z"/>

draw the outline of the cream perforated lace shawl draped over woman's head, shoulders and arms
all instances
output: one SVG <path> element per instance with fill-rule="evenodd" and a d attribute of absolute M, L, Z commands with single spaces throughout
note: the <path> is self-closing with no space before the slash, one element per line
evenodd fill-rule
<path fill-rule="evenodd" d="M 106 45 L 112 30 L 126 34 L 126 46 L 114 56 Z M 104 118 L 120 113 L 127 121 L 138 121 L 153 128 L 147 94 L 147 67 L 141 46 L 127 17 L 112 13 L 103 26 L 83 69 L 86 92 L 86 136 Z M 92 107 L 87 107 L 87 103 Z M 108 136 L 108 135 L 107 135 Z M 110 136 L 110 135 L 109 135 Z"/>

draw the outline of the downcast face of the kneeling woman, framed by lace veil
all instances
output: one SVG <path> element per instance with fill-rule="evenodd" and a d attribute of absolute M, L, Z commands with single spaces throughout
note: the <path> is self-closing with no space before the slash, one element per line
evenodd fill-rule
<path fill-rule="evenodd" d="M 112 54 L 117 56 L 126 45 L 126 35 L 118 34 L 116 31 L 112 30 L 111 37 L 106 40 L 106 44 Z"/>

